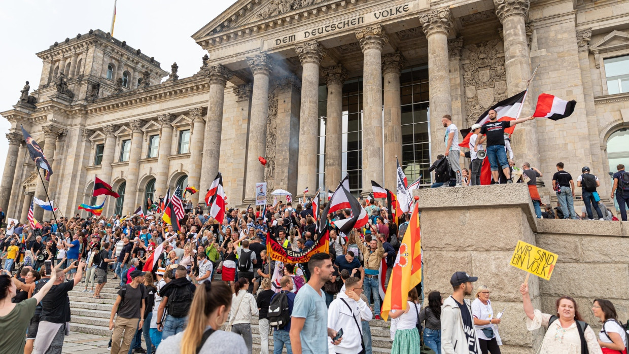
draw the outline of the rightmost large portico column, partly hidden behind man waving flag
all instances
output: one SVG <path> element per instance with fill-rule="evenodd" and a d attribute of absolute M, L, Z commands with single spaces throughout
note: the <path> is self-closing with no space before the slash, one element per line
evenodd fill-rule
<path fill-rule="evenodd" d="M 508 96 L 524 91 L 526 81 L 531 77 L 530 53 L 525 29 L 529 6 L 530 0 L 494 0 L 496 16 L 503 24 L 504 70 Z M 525 105 L 521 117 L 532 113 L 530 103 L 525 102 Z M 537 166 L 540 161 L 537 144 L 537 121 L 519 124 L 516 133 L 513 134 L 514 158 Z"/>

